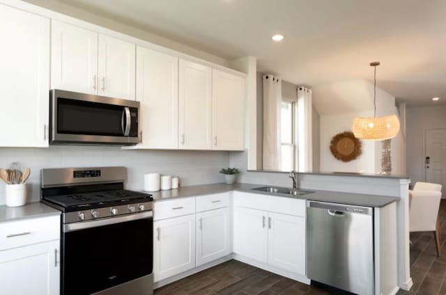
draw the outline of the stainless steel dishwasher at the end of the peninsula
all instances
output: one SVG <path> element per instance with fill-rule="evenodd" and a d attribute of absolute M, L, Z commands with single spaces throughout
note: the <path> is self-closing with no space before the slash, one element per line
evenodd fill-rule
<path fill-rule="evenodd" d="M 307 256 L 311 280 L 373 295 L 373 208 L 308 201 Z"/>

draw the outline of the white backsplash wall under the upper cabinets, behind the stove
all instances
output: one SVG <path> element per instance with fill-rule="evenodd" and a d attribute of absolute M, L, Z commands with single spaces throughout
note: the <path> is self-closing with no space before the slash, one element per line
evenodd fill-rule
<path fill-rule="evenodd" d="M 40 198 L 40 169 L 64 167 L 125 166 L 126 187 L 144 188 L 145 173 L 180 177 L 182 186 L 224 182 L 220 168 L 229 166 L 229 152 L 121 150 L 118 147 L 52 146 L 50 148 L 0 148 L 0 167 L 14 161 L 31 168 L 29 200 Z M 0 205 L 5 204 L 5 186 L 0 182 Z"/>

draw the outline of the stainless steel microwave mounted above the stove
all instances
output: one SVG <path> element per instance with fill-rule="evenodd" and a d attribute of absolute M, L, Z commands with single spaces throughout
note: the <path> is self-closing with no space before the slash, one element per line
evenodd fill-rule
<path fill-rule="evenodd" d="M 50 144 L 139 143 L 139 102 L 50 90 Z"/>

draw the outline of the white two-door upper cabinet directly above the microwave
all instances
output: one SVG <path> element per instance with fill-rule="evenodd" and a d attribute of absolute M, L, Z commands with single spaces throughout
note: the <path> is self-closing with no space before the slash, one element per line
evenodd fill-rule
<path fill-rule="evenodd" d="M 51 88 L 134 99 L 134 44 L 56 20 L 51 43 Z"/>

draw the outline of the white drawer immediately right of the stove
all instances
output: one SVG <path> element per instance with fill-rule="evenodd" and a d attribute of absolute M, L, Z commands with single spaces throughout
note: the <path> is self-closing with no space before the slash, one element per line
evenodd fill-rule
<path fill-rule="evenodd" d="M 195 198 L 158 201 L 153 206 L 153 219 L 155 221 L 194 213 Z"/>

